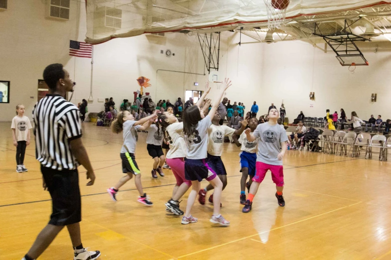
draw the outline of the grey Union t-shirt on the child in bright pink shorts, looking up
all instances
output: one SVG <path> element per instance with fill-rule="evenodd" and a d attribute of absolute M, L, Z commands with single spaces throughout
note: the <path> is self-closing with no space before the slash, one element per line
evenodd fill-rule
<path fill-rule="evenodd" d="M 281 142 L 288 141 L 284 127 L 278 124 L 271 126 L 266 122 L 258 125 L 253 134 L 259 138 L 257 161 L 271 165 L 283 165 L 277 155 L 281 152 Z"/>

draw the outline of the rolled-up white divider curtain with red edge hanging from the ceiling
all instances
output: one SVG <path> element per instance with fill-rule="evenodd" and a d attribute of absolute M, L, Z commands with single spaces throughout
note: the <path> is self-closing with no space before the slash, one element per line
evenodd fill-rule
<path fill-rule="evenodd" d="M 391 4 L 391 0 L 291 0 L 286 17 L 326 15 L 381 4 Z M 91 44 L 150 32 L 224 31 L 267 24 L 263 0 L 86 0 L 86 11 L 85 41 Z M 113 19 L 117 21 L 114 26 Z"/>

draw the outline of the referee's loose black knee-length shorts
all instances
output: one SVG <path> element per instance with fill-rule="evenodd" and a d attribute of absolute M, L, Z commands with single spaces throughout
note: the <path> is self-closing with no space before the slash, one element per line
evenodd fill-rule
<path fill-rule="evenodd" d="M 54 170 L 41 165 L 41 172 L 52 200 L 49 224 L 66 226 L 81 221 L 79 174 L 75 170 Z"/>

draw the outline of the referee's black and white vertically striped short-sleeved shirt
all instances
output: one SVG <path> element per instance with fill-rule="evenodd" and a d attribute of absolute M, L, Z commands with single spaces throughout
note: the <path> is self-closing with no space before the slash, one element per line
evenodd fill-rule
<path fill-rule="evenodd" d="M 41 99 L 32 111 L 35 157 L 47 168 L 74 170 L 78 166 L 69 141 L 81 137 L 80 112 L 60 95 Z"/>

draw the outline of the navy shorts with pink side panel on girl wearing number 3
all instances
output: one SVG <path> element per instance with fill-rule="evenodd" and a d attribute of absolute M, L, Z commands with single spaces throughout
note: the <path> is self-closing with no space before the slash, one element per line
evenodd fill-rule
<path fill-rule="evenodd" d="M 191 181 L 202 181 L 206 179 L 211 181 L 216 178 L 216 172 L 209 167 L 205 159 L 187 159 L 185 160 L 185 178 Z"/>

